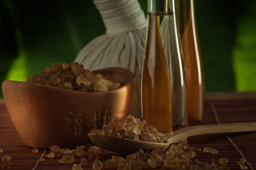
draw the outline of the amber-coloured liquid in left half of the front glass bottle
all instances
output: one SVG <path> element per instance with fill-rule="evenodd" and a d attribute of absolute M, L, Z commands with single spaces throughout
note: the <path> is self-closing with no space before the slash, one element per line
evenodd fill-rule
<path fill-rule="evenodd" d="M 171 85 L 160 37 L 162 12 L 148 13 L 142 75 L 142 115 L 160 132 L 172 131 Z"/>

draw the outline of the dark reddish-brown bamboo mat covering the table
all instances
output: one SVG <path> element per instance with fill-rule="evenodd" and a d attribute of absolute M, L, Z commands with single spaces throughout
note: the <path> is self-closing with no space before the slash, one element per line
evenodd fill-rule
<path fill-rule="evenodd" d="M 205 115 L 203 124 L 231 123 L 231 122 L 256 122 L 256 99 L 243 100 L 208 100 L 205 102 Z M 242 157 L 247 159 L 249 170 L 256 169 L 256 133 L 240 133 L 226 135 L 204 135 L 188 139 L 192 147 L 214 147 L 219 151 L 217 155 L 209 153 L 198 154 L 199 161 L 211 162 L 212 157 L 227 157 L 230 170 L 241 169 L 237 161 Z M 11 170 L 72 170 L 73 163 L 60 164 L 57 156 L 53 159 L 38 161 L 44 150 L 32 153 L 31 148 L 23 145 L 15 127 L 9 117 L 6 106 L 0 103 L 0 147 L 3 155 L 12 157 Z M 46 151 L 49 153 L 49 150 Z M 38 163 L 39 162 L 39 163 Z M 74 163 L 79 163 L 77 158 Z M 0 160 L 0 165 L 3 162 Z M 90 170 L 84 167 L 84 170 Z"/>

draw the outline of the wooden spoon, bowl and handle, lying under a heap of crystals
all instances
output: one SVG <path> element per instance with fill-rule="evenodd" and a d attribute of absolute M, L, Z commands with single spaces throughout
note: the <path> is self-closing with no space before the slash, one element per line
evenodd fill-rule
<path fill-rule="evenodd" d="M 250 123 L 229 123 L 216 125 L 199 125 L 184 127 L 175 131 L 172 135 L 164 136 L 166 143 L 154 143 L 137 141 L 134 139 L 118 138 L 113 136 L 96 135 L 89 133 L 89 138 L 99 147 L 115 153 L 131 154 L 142 149 L 144 152 L 156 147 L 165 147 L 174 142 L 186 139 L 189 136 L 197 136 L 213 133 L 234 133 L 234 132 L 251 132 L 256 131 L 256 122 Z"/>

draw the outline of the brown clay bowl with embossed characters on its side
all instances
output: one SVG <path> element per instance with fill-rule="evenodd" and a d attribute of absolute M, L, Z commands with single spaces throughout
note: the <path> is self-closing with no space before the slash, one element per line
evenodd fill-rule
<path fill-rule="evenodd" d="M 102 128 L 113 116 L 126 116 L 135 77 L 123 68 L 93 71 L 123 82 L 114 91 L 84 93 L 29 82 L 4 81 L 6 106 L 20 138 L 38 149 L 58 145 L 73 148 L 90 142 L 87 133 Z"/>

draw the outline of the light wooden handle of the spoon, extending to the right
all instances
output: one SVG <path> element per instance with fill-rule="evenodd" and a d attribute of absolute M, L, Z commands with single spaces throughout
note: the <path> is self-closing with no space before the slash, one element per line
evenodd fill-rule
<path fill-rule="evenodd" d="M 197 136 L 213 133 L 234 133 L 234 132 L 251 132 L 256 131 L 256 122 L 248 123 L 227 123 L 215 125 L 199 125 L 184 127 L 175 131 L 172 135 L 165 136 L 168 143 L 177 142 L 189 136 Z"/>

